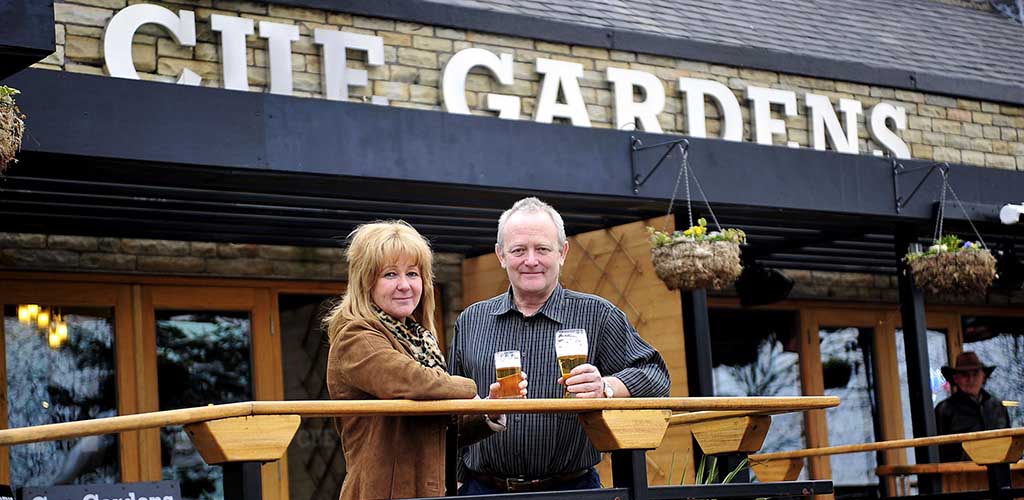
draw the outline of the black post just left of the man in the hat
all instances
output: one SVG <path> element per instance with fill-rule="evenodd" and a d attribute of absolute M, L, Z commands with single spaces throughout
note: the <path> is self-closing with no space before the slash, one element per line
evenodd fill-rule
<path fill-rule="evenodd" d="M 899 281 L 899 307 L 903 320 L 903 345 L 906 350 L 906 379 L 910 392 L 910 420 L 914 437 L 936 434 L 935 410 L 932 408 L 932 385 L 928 363 L 928 323 L 925 320 L 925 296 L 913 283 L 903 256 L 915 238 L 909 232 L 896 236 L 896 259 Z M 938 449 L 934 446 L 914 449 L 918 463 L 938 462 Z M 941 482 L 935 474 L 918 476 L 922 494 L 939 493 Z"/>

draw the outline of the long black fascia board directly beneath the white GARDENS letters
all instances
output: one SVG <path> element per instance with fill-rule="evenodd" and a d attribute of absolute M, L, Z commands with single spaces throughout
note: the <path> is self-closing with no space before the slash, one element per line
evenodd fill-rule
<path fill-rule="evenodd" d="M 667 202 L 679 172 L 678 157 L 670 157 L 634 195 L 634 134 L 621 130 L 45 70 L 26 70 L 11 82 L 32 89 L 20 99 L 29 115 L 24 149 L 42 154 L 376 178 L 411 189 L 446 184 L 632 198 L 638 204 Z M 677 137 L 640 135 L 647 144 Z M 927 195 L 933 190 L 926 184 L 897 214 L 892 162 L 884 158 L 689 141 L 689 164 L 714 204 L 907 222 L 934 213 L 935 200 Z M 639 169 L 649 169 L 658 155 L 641 155 Z M 1024 193 L 1024 174 L 1015 171 L 953 165 L 950 175 L 967 203 L 1019 202 Z M 912 189 L 912 175 L 906 177 L 901 185 Z M 938 181 L 932 177 L 929 182 Z M 696 198 L 695 187 L 692 193 Z"/>

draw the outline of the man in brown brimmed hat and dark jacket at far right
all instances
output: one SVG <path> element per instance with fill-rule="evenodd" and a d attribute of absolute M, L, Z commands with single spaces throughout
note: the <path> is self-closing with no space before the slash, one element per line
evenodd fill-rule
<path fill-rule="evenodd" d="M 961 352 L 952 368 L 942 367 L 942 376 L 953 393 L 935 407 L 935 422 L 940 434 L 955 434 L 1010 426 L 1010 415 L 1002 401 L 982 388 L 995 367 L 985 366 L 974 352 Z M 939 460 L 971 460 L 959 444 L 939 447 Z"/>

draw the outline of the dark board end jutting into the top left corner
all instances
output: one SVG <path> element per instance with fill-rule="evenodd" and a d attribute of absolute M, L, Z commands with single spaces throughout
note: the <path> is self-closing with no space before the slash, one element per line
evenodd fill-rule
<path fill-rule="evenodd" d="M 0 79 L 56 50 L 52 0 L 0 0 Z"/>

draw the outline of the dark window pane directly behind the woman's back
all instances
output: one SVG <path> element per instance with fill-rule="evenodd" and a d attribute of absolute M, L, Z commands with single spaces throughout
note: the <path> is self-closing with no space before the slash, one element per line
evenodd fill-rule
<path fill-rule="evenodd" d="M 321 320 L 333 297 L 278 297 L 285 399 L 329 400 L 327 331 Z M 345 478 L 341 439 L 328 418 L 304 418 L 288 447 L 288 491 L 291 498 L 337 500 Z"/>

